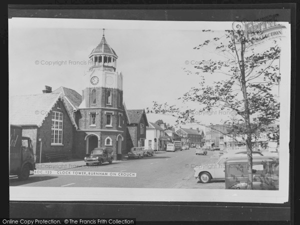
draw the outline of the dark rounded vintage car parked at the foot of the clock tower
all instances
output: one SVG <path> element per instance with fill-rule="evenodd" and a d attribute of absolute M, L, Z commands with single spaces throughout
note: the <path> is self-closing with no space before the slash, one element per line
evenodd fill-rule
<path fill-rule="evenodd" d="M 112 163 L 113 160 L 113 149 L 109 147 L 96 147 L 91 152 L 90 155 L 84 157 L 86 165 L 98 164 L 101 165 L 103 162 Z"/>

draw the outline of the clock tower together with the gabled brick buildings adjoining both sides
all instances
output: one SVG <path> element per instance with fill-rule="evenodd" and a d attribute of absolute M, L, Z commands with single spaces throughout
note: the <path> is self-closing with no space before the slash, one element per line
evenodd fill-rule
<path fill-rule="evenodd" d="M 10 124 L 22 125 L 36 158 L 42 143 L 42 161 L 47 152 L 83 158 L 95 147 L 111 147 L 114 159 L 121 159 L 131 146 L 144 146 L 145 111 L 126 110 L 123 75 L 116 71 L 118 56 L 104 34 L 88 57 L 91 66 L 83 76 L 82 96 L 70 88 L 52 92 L 45 86 L 42 94 L 10 98 Z"/>

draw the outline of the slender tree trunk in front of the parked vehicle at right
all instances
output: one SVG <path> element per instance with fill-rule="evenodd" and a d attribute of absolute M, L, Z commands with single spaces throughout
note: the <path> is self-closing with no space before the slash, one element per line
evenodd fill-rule
<path fill-rule="evenodd" d="M 241 89 L 244 98 L 244 107 L 245 107 L 245 124 L 246 124 L 246 147 L 247 147 L 247 169 L 248 169 L 248 179 L 247 179 L 247 189 L 252 189 L 252 144 L 251 144 L 251 124 L 250 124 L 250 115 L 249 115 L 249 107 L 248 107 L 248 97 L 247 97 L 247 89 L 246 89 L 246 80 L 245 80 L 245 67 L 244 67 L 244 47 L 245 42 L 241 41 L 241 51 L 240 51 L 240 72 L 241 72 Z"/>

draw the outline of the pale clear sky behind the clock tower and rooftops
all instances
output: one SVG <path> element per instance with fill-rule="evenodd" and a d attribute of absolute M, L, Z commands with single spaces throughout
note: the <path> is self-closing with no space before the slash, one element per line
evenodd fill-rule
<path fill-rule="evenodd" d="M 201 81 L 198 75 L 188 75 L 183 68 L 193 69 L 192 63 L 196 61 L 222 59 L 211 52 L 212 49 L 193 49 L 206 39 L 222 35 L 225 27 L 219 24 L 213 25 L 221 29 L 202 32 L 210 27 L 209 22 L 69 20 L 10 19 L 9 95 L 42 93 L 44 85 L 51 86 L 52 90 L 65 86 L 81 94 L 88 55 L 100 42 L 102 28 L 105 28 L 107 43 L 118 56 L 116 69 L 123 74 L 123 99 L 127 109 L 146 109 L 152 106 L 152 101 L 183 106 L 177 98 Z M 226 78 L 223 76 L 207 75 L 207 81 Z M 147 118 L 151 122 L 162 119 L 174 124 L 175 121 L 174 117 L 161 114 L 147 114 Z M 228 115 L 218 112 L 198 116 L 204 124 L 221 123 L 226 118 Z M 182 127 L 205 130 L 199 125 Z"/>

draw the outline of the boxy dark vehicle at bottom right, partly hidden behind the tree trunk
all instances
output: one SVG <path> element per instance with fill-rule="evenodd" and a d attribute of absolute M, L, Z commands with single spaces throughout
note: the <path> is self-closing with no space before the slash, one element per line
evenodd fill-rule
<path fill-rule="evenodd" d="M 252 159 L 252 189 L 278 190 L 279 157 L 257 156 Z M 225 188 L 247 189 L 247 157 L 225 160 Z"/>

